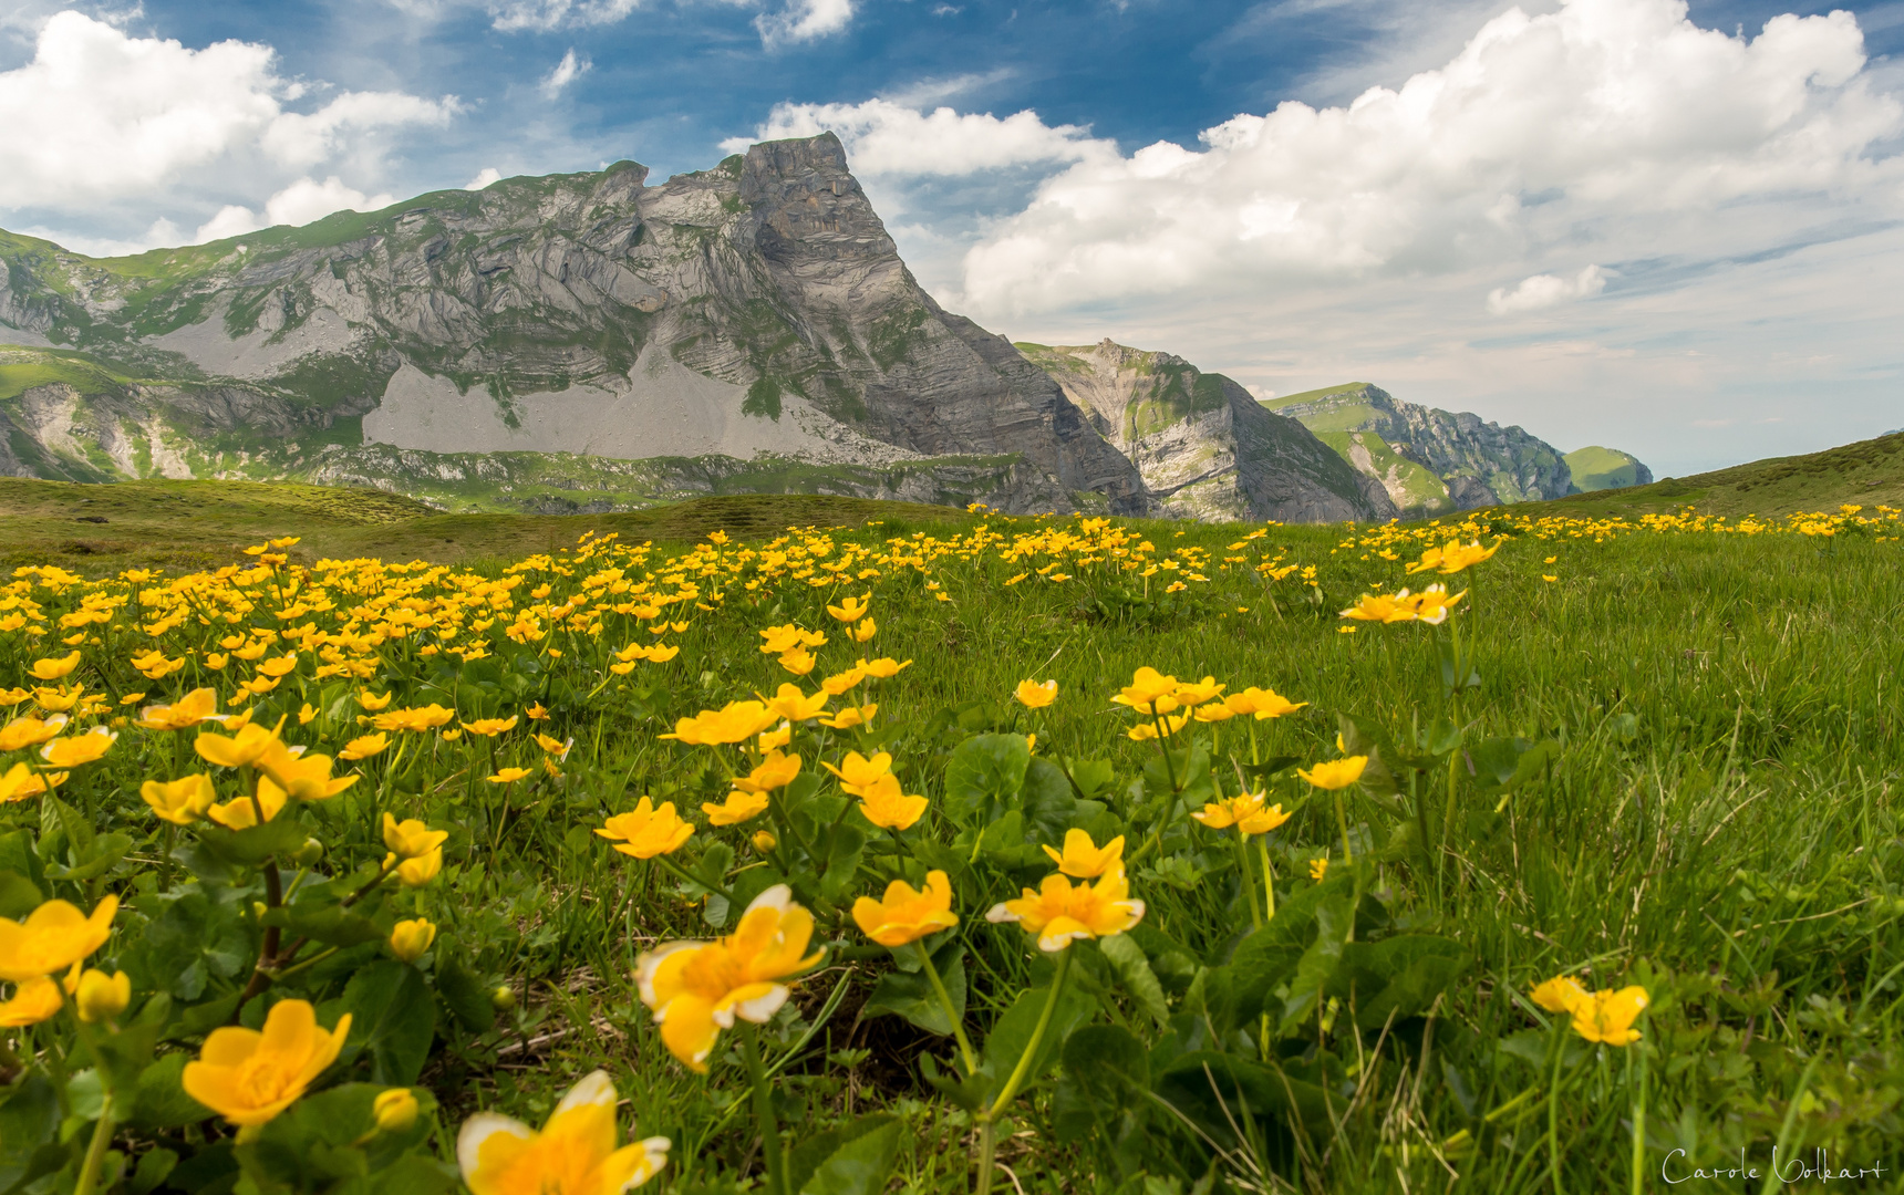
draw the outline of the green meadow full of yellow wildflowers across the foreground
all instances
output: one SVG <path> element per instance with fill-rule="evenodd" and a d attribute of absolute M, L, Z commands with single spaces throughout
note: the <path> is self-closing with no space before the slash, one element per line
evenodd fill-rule
<path fill-rule="evenodd" d="M 1898 512 L 588 529 L 13 569 L 0 1193 L 1904 1189 Z"/>

